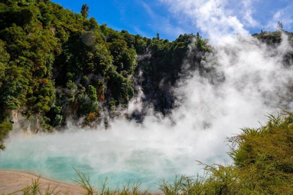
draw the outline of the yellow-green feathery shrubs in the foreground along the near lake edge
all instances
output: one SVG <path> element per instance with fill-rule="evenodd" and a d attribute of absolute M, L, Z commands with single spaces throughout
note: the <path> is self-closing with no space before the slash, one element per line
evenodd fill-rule
<path fill-rule="evenodd" d="M 203 166 L 204 174 L 176 175 L 172 182 L 161 179 L 159 190 L 166 195 L 189 194 L 292 194 L 293 193 L 293 113 L 270 115 L 266 125 L 257 129 L 243 128 L 242 133 L 226 139 L 233 164 Z M 90 177 L 75 169 L 72 180 L 92 194 L 147 194 L 139 183 L 123 184 L 122 189 L 108 187 L 108 178 L 96 191 Z M 36 186 L 33 182 L 32 186 Z M 28 187 L 33 191 L 33 187 Z"/>

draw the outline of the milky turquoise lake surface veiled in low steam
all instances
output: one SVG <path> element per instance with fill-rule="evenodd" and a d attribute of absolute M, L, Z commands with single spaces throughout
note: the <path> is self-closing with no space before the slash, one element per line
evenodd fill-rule
<path fill-rule="evenodd" d="M 107 131 L 77 131 L 23 136 L 11 135 L 6 151 L 0 154 L 0 169 L 29 171 L 46 178 L 71 183 L 74 168 L 91 176 L 99 188 L 108 176 L 110 186 L 142 182 L 142 188 L 156 191 L 159 180 L 172 180 L 175 173 L 201 171 L 199 158 L 185 144 L 151 139 L 107 139 Z M 182 145 L 182 147 L 180 147 Z M 223 161 L 224 156 L 208 159 Z M 205 161 L 207 162 L 207 161 Z M 208 162 L 207 162 L 208 163 Z"/>

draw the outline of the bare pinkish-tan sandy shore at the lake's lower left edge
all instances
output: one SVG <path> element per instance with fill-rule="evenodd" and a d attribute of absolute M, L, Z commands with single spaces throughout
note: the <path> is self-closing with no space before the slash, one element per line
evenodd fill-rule
<path fill-rule="evenodd" d="M 32 178 L 35 180 L 38 176 L 29 172 L 0 170 L 0 194 L 8 194 L 18 189 L 23 189 L 27 184 L 31 184 Z M 40 182 L 42 192 L 45 192 L 48 184 L 50 184 L 51 189 L 58 185 L 57 191 L 60 190 L 60 194 L 79 195 L 84 193 L 81 187 L 49 180 L 44 177 L 41 177 Z"/>

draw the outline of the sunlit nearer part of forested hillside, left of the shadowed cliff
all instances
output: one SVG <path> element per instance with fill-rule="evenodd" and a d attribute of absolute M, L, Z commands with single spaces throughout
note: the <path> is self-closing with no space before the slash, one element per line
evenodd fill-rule
<path fill-rule="evenodd" d="M 22 109 L 53 130 L 67 114 L 98 115 L 98 99 L 118 105 L 133 97 L 133 46 L 87 19 L 88 10 L 85 4 L 73 13 L 51 1 L 0 3 L 0 121 Z"/>

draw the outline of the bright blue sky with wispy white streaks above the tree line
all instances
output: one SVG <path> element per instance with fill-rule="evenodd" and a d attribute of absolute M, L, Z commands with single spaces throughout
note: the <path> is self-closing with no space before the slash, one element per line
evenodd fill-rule
<path fill-rule="evenodd" d="M 284 24 L 285 30 L 293 31 L 291 0 L 53 0 L 53 2 L 76 12 L 79 12 L 82 4 L 86 3 L 90 8 L 89 17 L 96 18 L 98 23 L 107 23 L 115 30 L 125 29 L 132 34 L 149 38 L 155 37 L 156 32 L 160 33 L 161 38 L 169 40 L 174 40 L 183 33 L 196 34 L 196 32 L 200 32 L 203 37 L 209 37 L 211 36 L 209 30 L 212 28 L 216 28 L 217 33 L 242 32 L 239 30 L 239 25 L 243 25 L 242 29 L 252 34 L 260 30 L 274 30 L 279 20 Z M 212 9 L 208 9 L 208 6 Z M 213 11 L 215 12 L 212 13 Z M 203 12 L 208 14 L 202 17 Z M 209 20 L 206 20 L 207 18 Z M 211 25 L 214 18 L 217 19 L 217 23 Z M 231 18 L 233 20 L 230 20 Z M 226 26 L 223 21 L 229 25 Z M 210 29 L 205 29 L 207 27 Z"/>

